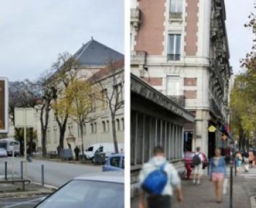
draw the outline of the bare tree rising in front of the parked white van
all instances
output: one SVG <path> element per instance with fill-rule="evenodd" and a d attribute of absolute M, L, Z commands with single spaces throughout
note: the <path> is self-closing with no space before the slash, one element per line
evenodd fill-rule
<path fill-rule="evenodd" d="M 124 61 L 108 61 L 105 69 L 101 69 L 90 77 L 89 81 L 93 82 L 95 87 L 101 91 L 101 100 L 103 105 L 107 105 L 112 126 L 112 137 L 115 147 L 115 152 L 119 152 L 117 137 L 116 137 L 116 113 L 124 108 Z"/>

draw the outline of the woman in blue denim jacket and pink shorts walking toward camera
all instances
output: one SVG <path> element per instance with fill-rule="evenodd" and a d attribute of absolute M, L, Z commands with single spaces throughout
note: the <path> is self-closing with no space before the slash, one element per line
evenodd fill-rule
<path fill-rule="evenodd" d="M 213 181 L 216 193 L 216 202 L 221 203 L 223 180 L 226 177 L 226 162 L 221 157 L 221 149 L 215 150 L 215 157 L 210 159 L 209 164 L 210 181 Z"/>

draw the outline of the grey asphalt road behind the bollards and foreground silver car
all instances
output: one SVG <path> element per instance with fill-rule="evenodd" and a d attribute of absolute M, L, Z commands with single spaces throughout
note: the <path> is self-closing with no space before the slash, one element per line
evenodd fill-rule
<path fill-rule="evenodd" d="M 14 158 L 14 172 L 20 175 L 20 161 L 22 158 Z M 0 177 L 4 176 L 4 162 L 8 163 L 8 175 L 12 174 L 12 157 L 0 158 Z M 27 162 L 28 178 L 32 181 L 40 183 L 41 181 L 41 165 L 44 165 L 45 184 L 51 186 L 62 186 L 64 183 L 72 180 L 79 175 L 101 172 L 101 166 L 70 164 L 67 162 L 52 162 L 48 160 L 33 160 Z M 25 166 L 25 165 L 24 165 Z"/>

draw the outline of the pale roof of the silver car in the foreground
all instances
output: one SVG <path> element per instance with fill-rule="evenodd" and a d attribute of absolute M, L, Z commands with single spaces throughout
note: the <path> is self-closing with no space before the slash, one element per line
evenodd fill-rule
<path fill-rule="evenodd" d="M 124 183 L 124 171 L 116 171 L 116 172 L 109 171 L 109 172 L 80 175 L 77 178 L 74 178 L 74 180 Z"/>

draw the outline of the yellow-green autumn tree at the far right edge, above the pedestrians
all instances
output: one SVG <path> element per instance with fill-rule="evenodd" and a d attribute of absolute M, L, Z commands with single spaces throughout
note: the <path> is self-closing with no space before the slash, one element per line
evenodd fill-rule
<path fill-rule="evenodd" d="M 256 8 L 256 7 L 255 7 Z M 241 60 L 244 71 L 236 76 L 231 92 L 231 123 L 234 134 L 239 137 L 239 145 L 249 145 L 249 139 L 256 139 L 256 16 L 249 15 L 244 27 L 255 36 L 252 50 Z"/>

